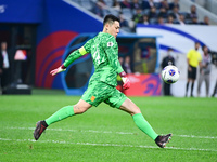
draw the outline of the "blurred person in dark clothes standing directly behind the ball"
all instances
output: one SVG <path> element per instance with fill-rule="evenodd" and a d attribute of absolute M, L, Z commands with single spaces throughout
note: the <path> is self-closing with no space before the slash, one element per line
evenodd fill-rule
<path fill-rule="evenodd" d="M 175 59 L 171 56 L 171 52 L 173 52 L 173 49 L 167 50 L 167 56 L 165 56 L 162 60 L 162 69 L 164 69 L 168 65 L 175 65 Z M 171 95 L 170 84 L 167 84 L 167 83 L 164 82 L 163 87 L 164 87 L 164 95 L 170 96 Z"/>

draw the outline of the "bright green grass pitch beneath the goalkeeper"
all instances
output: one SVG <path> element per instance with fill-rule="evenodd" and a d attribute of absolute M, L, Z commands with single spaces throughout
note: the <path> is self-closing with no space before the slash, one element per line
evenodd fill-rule
<path fill-rule="evenodd" d="M 158 134 L 174 134 L 165 149 L 105 104 L 50 125 L 34 140 L 38 120 L 79 98 L 46 90 L 0 96 L 0 161 L 217 161 L 216 98 L 130 97 Z"/>

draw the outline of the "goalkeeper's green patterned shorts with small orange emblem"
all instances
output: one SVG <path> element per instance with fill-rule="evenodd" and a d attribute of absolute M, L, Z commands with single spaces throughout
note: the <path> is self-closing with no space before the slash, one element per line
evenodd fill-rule
<path fill-rule="evenodd" d="M 119 108 L 127 97 L 115 86 L 108 85 L 104 82 L 93 81 L 89 83 L 81 99 L 95 107 L 104 102 L 111 107 Z"/>

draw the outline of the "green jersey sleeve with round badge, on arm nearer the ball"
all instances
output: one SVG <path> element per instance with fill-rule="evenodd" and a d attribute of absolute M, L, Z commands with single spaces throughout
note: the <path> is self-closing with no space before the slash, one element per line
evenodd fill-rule
<path fill-rule="evenodd" d="M 104 51 L 107 55 L 110 65 L 116 70 L 117 73 L 123 72 L 123 67 L 118 60 L 118 45 L 115 38 L 108 39 L 104 42 Z"/>

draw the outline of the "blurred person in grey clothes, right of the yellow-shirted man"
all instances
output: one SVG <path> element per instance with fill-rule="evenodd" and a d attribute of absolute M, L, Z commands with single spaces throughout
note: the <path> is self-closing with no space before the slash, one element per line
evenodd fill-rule
<path fill-rule="evenodd" d="M 206 84 L 206 97 L 209 94 L 209 82 L 210 82 L 210 65 L 212 57 L 208 53 L 208 48 L 206 45 L 203 46 L 203 55 L 202 62 L 200 64 L 200 76 L 199 76 L 199 84 L 197 84 L 197 96 L 201 94 L 201 84 L 205 81 Z"/>

